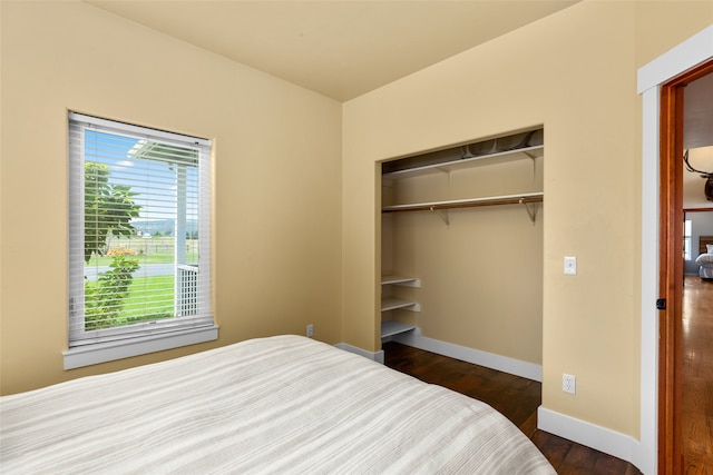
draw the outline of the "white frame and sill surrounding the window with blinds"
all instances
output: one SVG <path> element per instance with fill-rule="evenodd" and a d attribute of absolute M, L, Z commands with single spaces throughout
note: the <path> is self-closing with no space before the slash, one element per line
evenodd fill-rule
<path fill-rule="evenodd" d="M 69 112 L 69 348 L 65 369 L 215 340 L 211 304 L 211 140 Z M 145 138 L 198 150 L 198 286 L 205 298 L 196 316 L 153 320 L 104 330 L 84 329 L 84 135 L 87 129 Z"/>

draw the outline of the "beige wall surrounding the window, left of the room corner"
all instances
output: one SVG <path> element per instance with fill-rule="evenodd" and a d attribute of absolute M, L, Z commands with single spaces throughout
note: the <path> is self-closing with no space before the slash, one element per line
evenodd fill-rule
<path fill-rule="evenodd" d="M 341 340 L 341 105 L 81 2 L 1 2 L 1 393 L 277 333 Z M 67 110 L 214 140 L 217 342 L 71 372 Z"/>

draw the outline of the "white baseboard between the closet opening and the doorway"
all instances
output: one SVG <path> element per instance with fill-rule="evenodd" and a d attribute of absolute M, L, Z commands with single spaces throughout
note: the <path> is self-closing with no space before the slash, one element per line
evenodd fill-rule
<path fill-rule="evenodd" d="M 641 444 L 632 436 L 546 409 L 543 406 L 537 408 L 537 428 L 639 466 L 637 454 L 641 453 Z"/>

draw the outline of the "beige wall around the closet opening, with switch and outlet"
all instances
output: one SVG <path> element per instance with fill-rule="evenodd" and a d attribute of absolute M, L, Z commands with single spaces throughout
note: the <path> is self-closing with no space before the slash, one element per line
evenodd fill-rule
<path fill-rule="evenodd" d="M 343 311 L 345 328 L 362 330 L 346 342 L 378 346 L 378 289 L 356 296 L 381 270 L 370 258 L 380 254 L 374 162 L 544 125 L 543 404 L 638 437 L 636 70 L 712 22 L 711 2 L 585 1 L 346 102 L 343 176 L 358 179 L 343 190 L 354 219 L 344 227 Z M 569 255 L 575 277 L 563 275 Z M 424 336 L 451 331 L 433 323 Z M 563 373 L 577 376 L 576 396 L 561 392 Z"/>

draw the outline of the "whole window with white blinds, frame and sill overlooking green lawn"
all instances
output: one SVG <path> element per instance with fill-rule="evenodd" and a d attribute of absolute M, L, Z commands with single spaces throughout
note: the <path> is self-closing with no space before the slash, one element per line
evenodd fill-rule
<path fill-rule="evenodd" d="M 209 147 L 69 113 L 65 368 L 217 338 Z"/>

